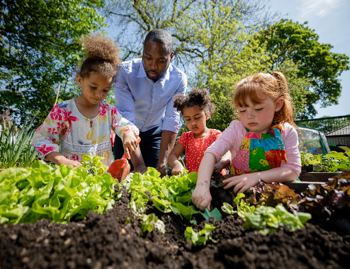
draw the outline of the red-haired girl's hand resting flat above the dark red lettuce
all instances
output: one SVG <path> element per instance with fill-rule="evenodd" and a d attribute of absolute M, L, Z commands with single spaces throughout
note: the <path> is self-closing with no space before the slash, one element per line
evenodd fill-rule
<path fill-rule="evenodd" d="M 233 186 L 233 192 L 235 194 L 242 194 L 250 187 L 254 187 L 259 183 L 259 175 L 257 173 L 242 174 L 240 176 L 233 176 L 222 181 L 222 183 L 228 183 L 224 186 L 224 189 L 229 189 Z"/>

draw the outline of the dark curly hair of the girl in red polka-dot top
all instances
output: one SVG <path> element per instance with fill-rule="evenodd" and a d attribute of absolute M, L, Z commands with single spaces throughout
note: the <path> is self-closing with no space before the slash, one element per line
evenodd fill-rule
<path fill-rule="evenodd" d="M 205 113 L 209 112 L 209 115 L 213 114 L 215 110 L 215 106 L 211 102 L 210 95 L 206 89 L 193 88 L 188 96 L 178 94 L 174 98 L 174 108 L 180 111 L 181 114 L 183 114 L 183 108 L 191 108 L 193 106 L 198 106 L 201 110 L 205 110 Z"/>

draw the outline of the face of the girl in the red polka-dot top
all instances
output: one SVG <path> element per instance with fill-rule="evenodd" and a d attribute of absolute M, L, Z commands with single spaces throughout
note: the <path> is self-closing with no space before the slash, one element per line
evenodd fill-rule
<path fill-rule="evenodd" d="M 198 106 L 183 108 L 183 119 L 189 130 L 195 134 L 203 134 L 207 127 L 206 122 L 209 119 L 209 112 L 205 113 L 205 110 L 198 108 Z"/>

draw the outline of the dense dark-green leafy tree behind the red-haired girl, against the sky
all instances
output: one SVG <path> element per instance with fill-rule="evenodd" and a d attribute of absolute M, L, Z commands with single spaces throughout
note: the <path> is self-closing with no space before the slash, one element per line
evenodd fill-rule
<path fill-rule="evenodd" d="M 320 43 L 318 34 L 307 27 L 307 22 L 282 19 L 256 37 L 261 46 L 266 47 L 270 58 L 266 65 L 270 70 L 279 71 L 286 63 L 296 65 L 296 78 L 305 80 L 299 95 L 304 96 L 305 104 L 297 106 L 304 109 L 299 110 L 299 119 L 316 115 L 316 103 L 321 107 L 338 104 L 342 89 L 339 76 L 349 70 L 349 56 L 334 53 L 331 45 Z"/>

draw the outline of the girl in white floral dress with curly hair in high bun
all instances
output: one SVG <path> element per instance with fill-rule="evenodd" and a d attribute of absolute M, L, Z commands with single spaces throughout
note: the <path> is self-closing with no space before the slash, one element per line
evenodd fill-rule
<path fill-rule="evenodd" d="M 76 75 L 80 96 L 57 104 L 36 130 L 33 146 L 44 161 L 79 167 L 82 156 L 102 156 L 102 163 L 113 161 L 110 132 L 123 140 L 124 152 L 137 148 L 137 127 L 121 117 L 117 108 L 106 104 L 113 78 L 119 67 L 119 49 L 112 40 L 87 36 L 82 40 L 86 59 Z M 59 146 L 61 142 L 61 150 Z"/>

